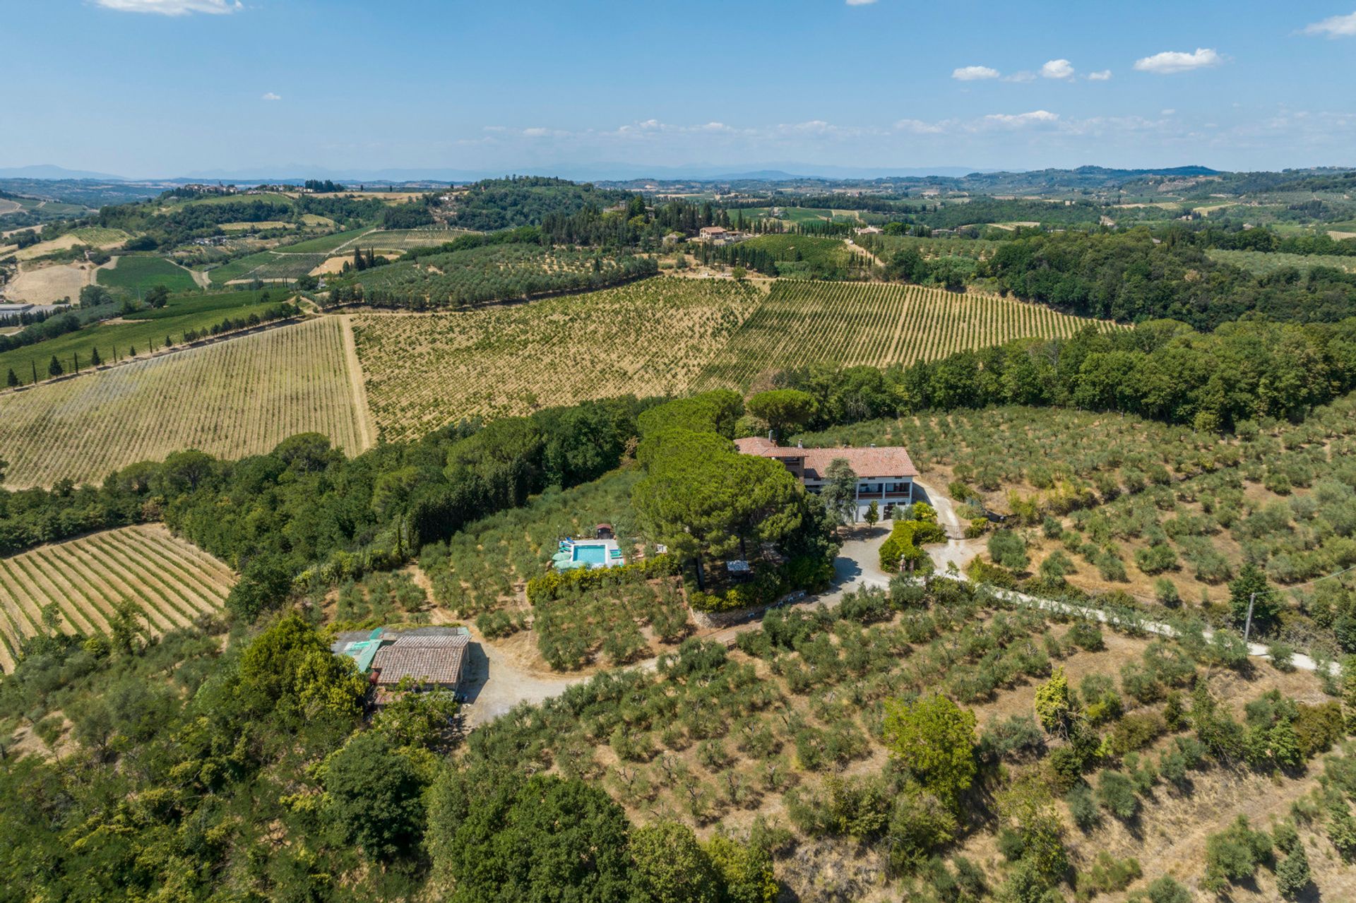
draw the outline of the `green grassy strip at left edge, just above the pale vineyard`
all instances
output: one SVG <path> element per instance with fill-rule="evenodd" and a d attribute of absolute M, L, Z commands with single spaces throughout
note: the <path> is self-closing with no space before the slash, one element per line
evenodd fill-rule
<path fill-rule="evenodd" d="M 37 369 L 38 380 L 46 380 L 47 365 L 53 355 L 66 372 L 75 369 L 76 355 L 79 355 L 80 367 L 84 369 L 89 366 L 92 348 L 99 348 L 99 357 L 107 362 L 111 362 L 115 354 L 126 357 L 130 348 L 145 354 L 152 344 L 156 348 L 163 347 L 165 336 L 171 336 L 178 343 L 183 340 L 183 334 L 188 329 L 209 329 L 226 317 L 235 320 L 248 317 L 251 313 L 262 315 L 286 297 L 274 289 L 267 293 L 271 300 L 260 301 L 263 294 L 260 292 L 224 292 L 171 298 L 164 308 L 138 310 L 129 315 L 122 323 L 99 323 L 79 332 L 68 332 L 56 339 L 5 351 L 0 354 L 0 378 L 12 369 L 15 376 L 27 385 L 33 381 L 33 373 Z"/>

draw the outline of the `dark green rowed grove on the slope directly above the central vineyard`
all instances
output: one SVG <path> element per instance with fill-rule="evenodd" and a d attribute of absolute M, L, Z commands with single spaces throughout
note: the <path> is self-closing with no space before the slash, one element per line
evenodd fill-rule
<path fill-rule="evenodd" d="M 377 267 L 355 282 L 367 304 L 422 310 L 601 289 L 656 270 L 650 258 L 499 244 Z"/>

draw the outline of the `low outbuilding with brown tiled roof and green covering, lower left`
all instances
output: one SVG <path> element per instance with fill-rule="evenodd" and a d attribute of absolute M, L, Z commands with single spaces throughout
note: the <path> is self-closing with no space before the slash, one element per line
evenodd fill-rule
<path fill-rule="evenodd" d="M 427 626 L 410 630 L 377 628 L 372 632 L 340 633 L 331 651 L 347 655 L 377 687 L 392 690 L 410 678 L 416 686 L 456 690 L 466 662 L 471 637 L 464 628 Z"/>

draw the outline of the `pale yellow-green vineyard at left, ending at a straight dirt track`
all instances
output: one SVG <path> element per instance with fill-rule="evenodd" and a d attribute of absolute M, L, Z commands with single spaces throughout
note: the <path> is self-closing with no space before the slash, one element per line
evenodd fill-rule
<path fill-rule="evenodd" d="M 182 449 L 268 452 L 297 433 L 362 447 L 336 317 L 136 361 L 0 396 L 5 483 L 102 480 Z"/>

